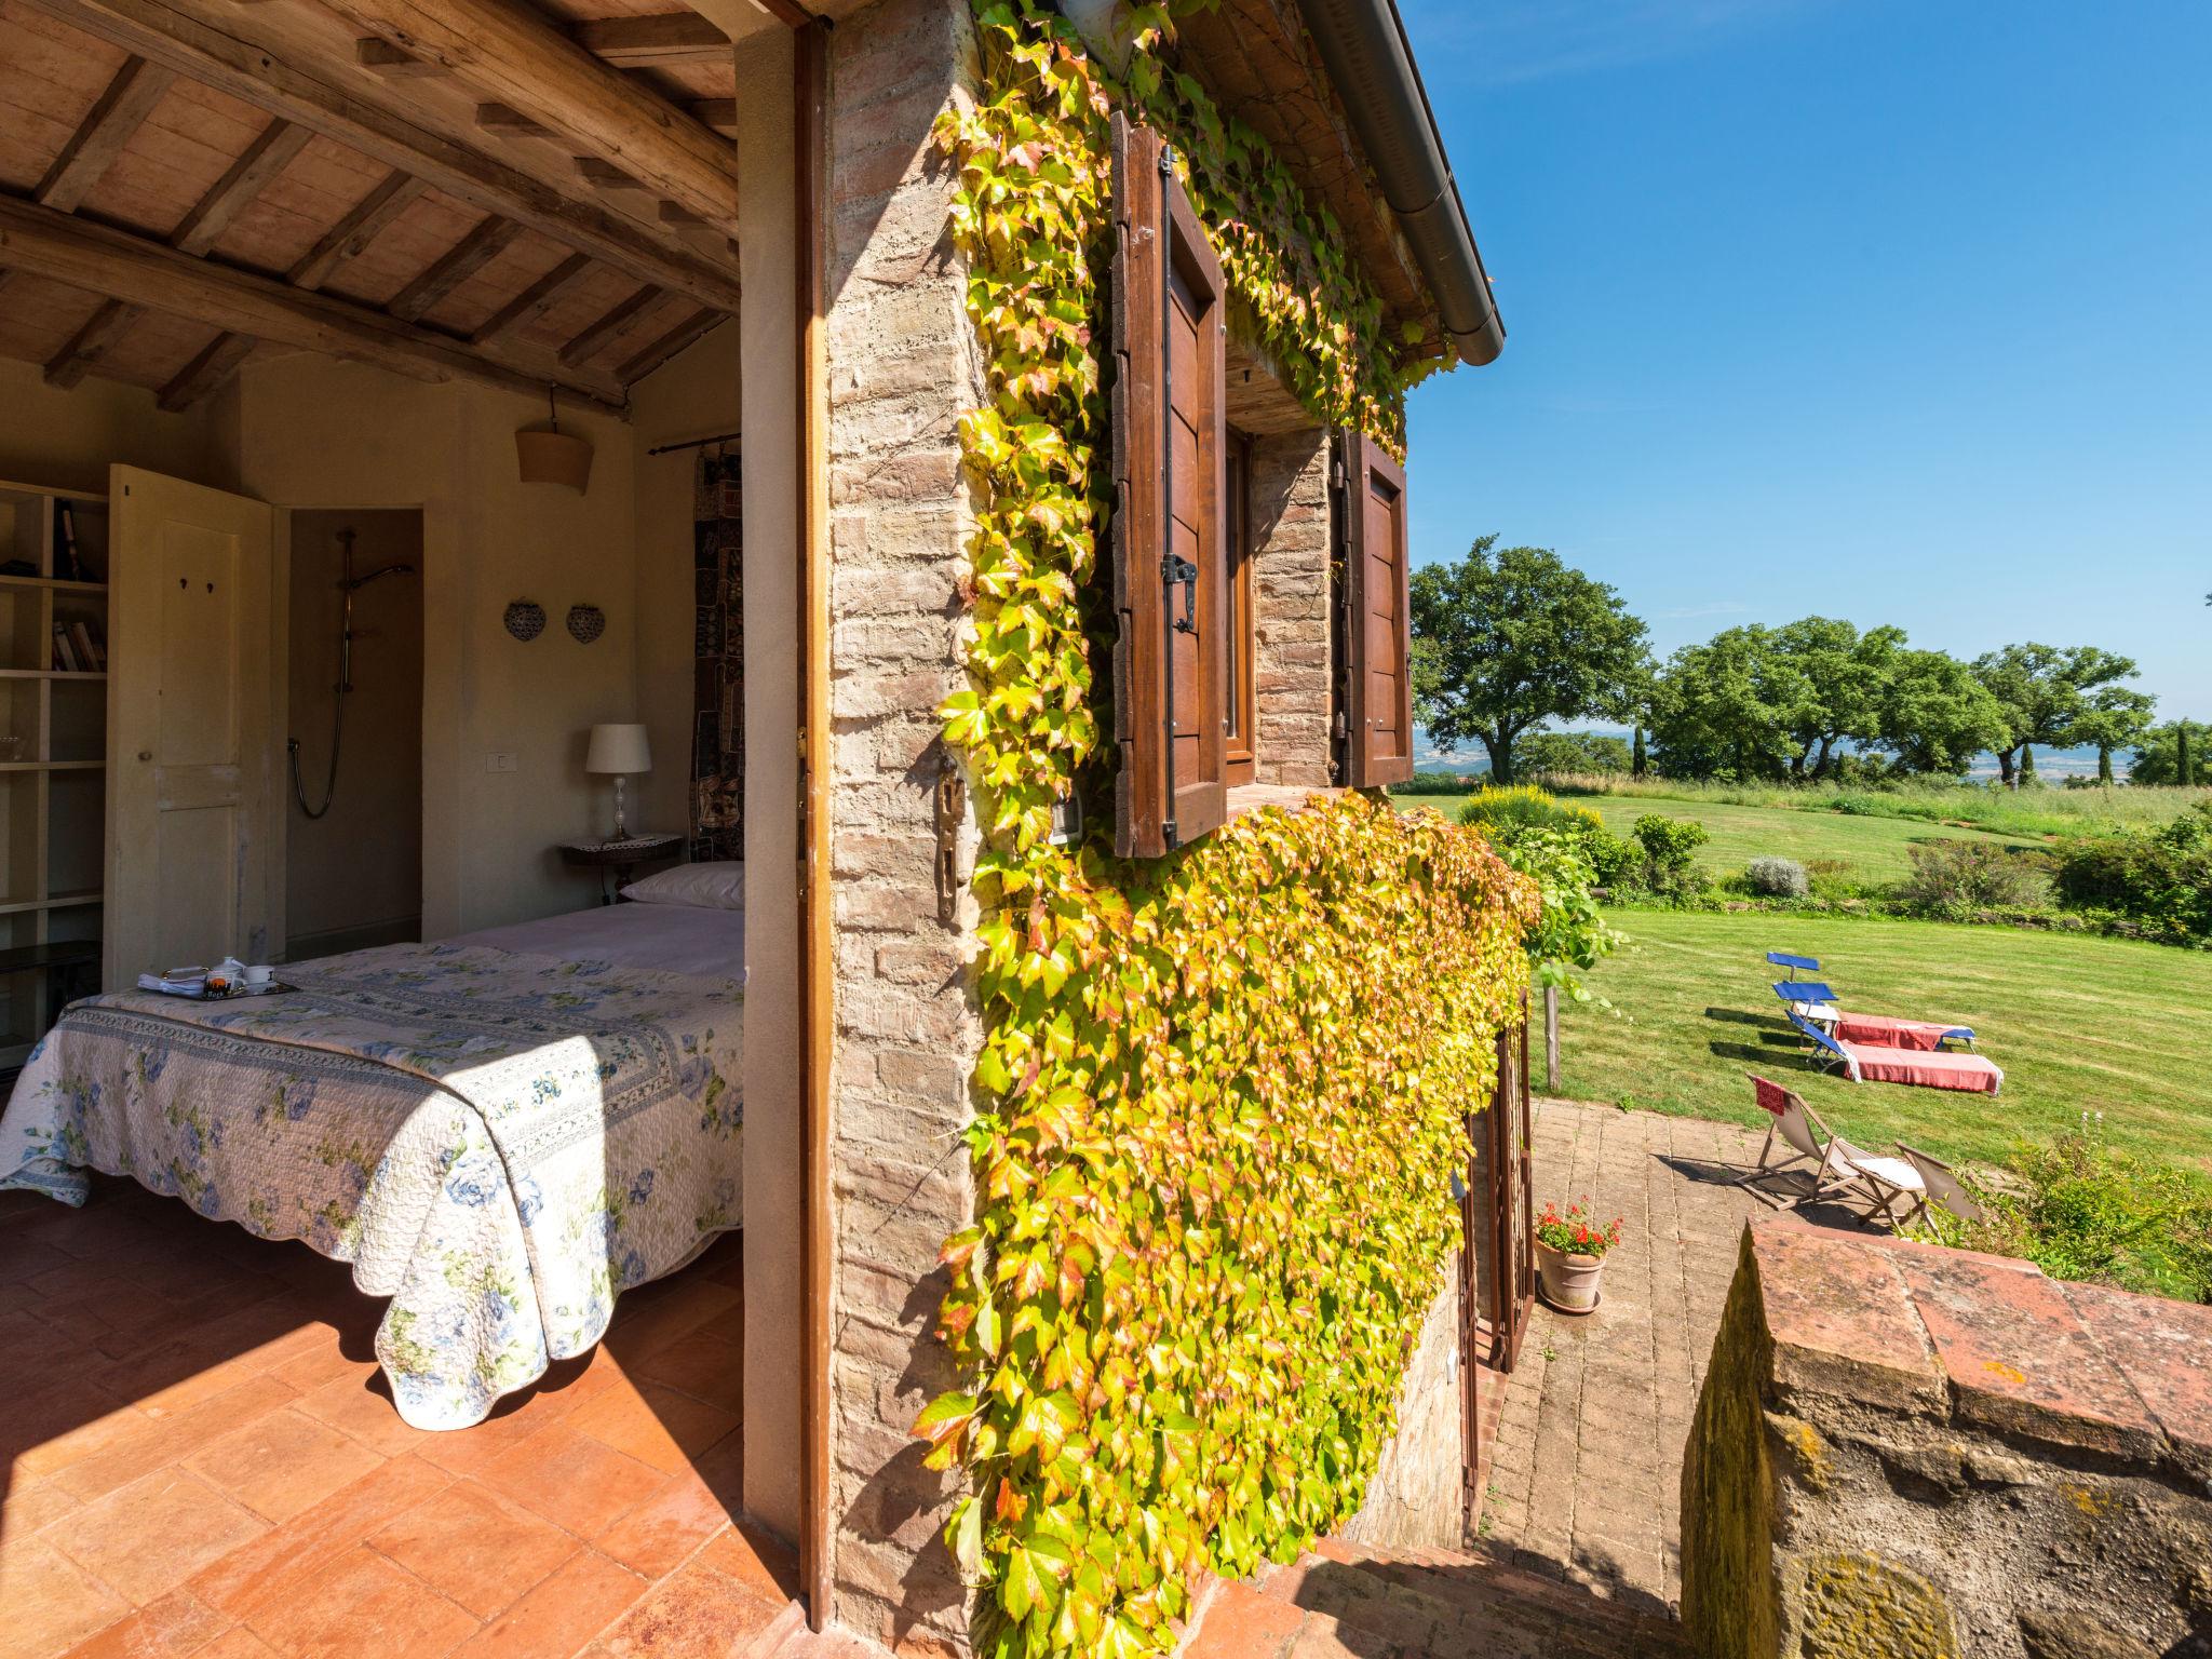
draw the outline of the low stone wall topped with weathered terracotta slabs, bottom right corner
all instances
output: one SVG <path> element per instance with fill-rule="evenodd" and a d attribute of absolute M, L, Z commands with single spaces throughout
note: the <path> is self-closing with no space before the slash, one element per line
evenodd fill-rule
<path fill-rule="evenodd" d="M 1708 1659 L 2212 1655 L 2212 1307 L 1752 1228 L 1681 1509 Z"/>

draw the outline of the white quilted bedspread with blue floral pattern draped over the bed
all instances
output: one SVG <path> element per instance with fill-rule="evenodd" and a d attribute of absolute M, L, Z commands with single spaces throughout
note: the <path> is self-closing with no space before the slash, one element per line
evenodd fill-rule
<path fill-rule="evenodd" d="M 290 967 L 294 993 L 69 1009 L 0 1117 L 0 1186 L 131 1175 L 389 1296 L 400 1416 L 465 1429 L 741 1221 L 734 980 L 462 945 Z"/>

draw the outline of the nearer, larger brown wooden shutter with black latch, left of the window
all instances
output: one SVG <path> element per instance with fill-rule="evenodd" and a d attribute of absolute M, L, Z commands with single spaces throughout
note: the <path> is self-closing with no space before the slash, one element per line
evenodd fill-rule
<path fill-rule="evenodd" d="M 1115 852 L 1155 858 L 1228 816 L 1228 288 L 1159 133 L 1119 115 L 1113 188 Z"/>

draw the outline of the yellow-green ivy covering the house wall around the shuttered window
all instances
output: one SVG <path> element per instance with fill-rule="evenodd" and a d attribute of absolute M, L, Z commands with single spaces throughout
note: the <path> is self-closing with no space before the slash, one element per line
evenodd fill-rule
<path fill-rule="evenodd" d="M 1108 119 L 1168 133 L 1259 345 L 1329 427 L 1402 449 L 1420 365 L 1327 215 L 1168 66 L 1130 7 L 1108 75 L 1033 0 L 975 0 L 982 95 L 938 126 L 989 383 L 967 690 L 945 732 L 984 847 L 975 1223 L 945 1245 L 967 1387 L 916 1431 L 987 1652 L 1159 1652 L 1194 1571 L 1349 1515 L 1458 1239 L 1464 1117 L 1526 978 L 1533 889 L 1471 832 L 1356 794 L 1161 860 L 1048 843 L 1110 796 L 1093 684 Z M 1097 834 L 1097 825 L 1093 825 Z"/>

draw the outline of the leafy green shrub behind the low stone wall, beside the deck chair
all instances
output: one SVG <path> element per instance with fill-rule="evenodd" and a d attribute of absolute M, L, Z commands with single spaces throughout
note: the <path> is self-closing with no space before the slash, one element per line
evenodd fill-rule
<path fill-rule="evenodd" d="M 2212 1301 L 2212 1194 L 2172 1164 L 2110 1148 L 2104 1113 L 2022 1146 L 2013 1175 L 1997 1190 L 1973 1181 L 1989 1219 L 1938 1219 L 1944 1241 L 2026 1256 L 2053 1279 Z"/>

